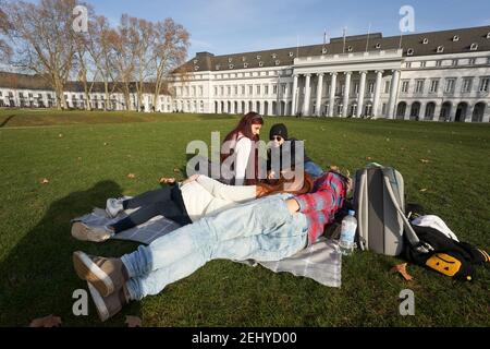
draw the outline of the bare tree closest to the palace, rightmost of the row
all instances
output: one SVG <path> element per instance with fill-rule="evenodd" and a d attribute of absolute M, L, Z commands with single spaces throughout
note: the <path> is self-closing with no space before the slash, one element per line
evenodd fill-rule
<path fill-rule="evenodd" d="M 171 72 L 182 67 L 187 57 L 188 33 L 172 19 L 155 24 L 152 43 L 151 71 L 155 73 L 154 106 L 158 105 L 158 97 L 163 88 L 168 86 L 168 77 Z M 186 76 L 185 70 L 179 74 Z"/>

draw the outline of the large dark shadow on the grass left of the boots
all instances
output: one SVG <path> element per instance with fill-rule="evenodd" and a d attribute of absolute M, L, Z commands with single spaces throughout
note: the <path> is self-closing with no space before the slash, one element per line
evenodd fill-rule
<path fill-rule="evenodd" d="M 100 326 L 88 294 L 88 316 L 75 316 L 73 292 L 87 289 L 73 269 L 72 253 L 77 250 L 96 255 L 120 256 L 133 251 L 131 242 L 102 244 L 81 242 L 71 236 L 71 219 L 94 206 L 105 206 L 107 197 L 122 196 L 112 181 L 101 181 L 87 191 L 74 192 L 53 202 L 42 219 L 23 237 L 0 263 L 0 326 L 28 326 L 30 321 L 50 314 L 60 316 L 61 326 Z M 124 315 L 139 316 L 133 302 L 122 314 L 103 323 L 124 326 Z"/>

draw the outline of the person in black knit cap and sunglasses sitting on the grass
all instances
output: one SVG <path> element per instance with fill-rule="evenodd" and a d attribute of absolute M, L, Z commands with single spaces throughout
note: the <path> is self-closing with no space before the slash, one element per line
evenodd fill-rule
<path fill-rule="evenodd" d="M 287 128 L 285 127 L 285 124 L 277 123 L 272 125 L 269 132 L 269 140 L 271 141 L 271 147 L 279 148 L 280 170 L 284 170 L 283 158 L 285 158 L 286 156 L 291 158 L 290 165 L 294 165 L 297 140 L 294 137 L 289 137 Z M 286 147 L 283 147 L 284 142 L 286 141 L 291 142 L 291 147 L 289 149 Z M 311 176 L 313 179 L 317 179 L 323 174 L 323 170 L 306 155 L 306 152 L 304 153 L 304 163 L 305 172 Z M 277 177 L 277 173 L 272 169 L 272 156 L 270 148 L 267 152 L 267 172 L 269 179 Z"/>

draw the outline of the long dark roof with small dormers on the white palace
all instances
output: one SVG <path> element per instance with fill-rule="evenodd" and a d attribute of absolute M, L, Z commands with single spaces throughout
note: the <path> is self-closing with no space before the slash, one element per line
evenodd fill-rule
<path fill-rule="evenodd" d="M 402 41 L 403 56 L 429 56 L 443 53 L 470 52 L 471 45 L 476 44 L 476 51 L 490 51 L 490 25 L 409 34 L 404 36 L 382 37 L 381 33 L 369 36 L 355 35 L 344 38 L 332 38 L 326 45 L 310 45 L 289 47 L 254 52 L 230 53 L 215 56 L 210 52 L 198 52 L 183 67 L 188 71 L 230 71 L 236 69 L 256 69 L 261 67 L 292 65 L 296 57 L 313 57 L 321 55 L 339 55 L 347 52 L 364 52 L 376 50 L 399 49 Z M 438 51 L 438 48 L 443 48 Z"/>

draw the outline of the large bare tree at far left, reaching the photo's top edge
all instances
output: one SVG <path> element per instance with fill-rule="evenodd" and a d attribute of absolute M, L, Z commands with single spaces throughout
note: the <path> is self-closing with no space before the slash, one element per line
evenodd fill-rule
<path fill-rule="evenodd" d="M 8 35 L 15 44 L 15 65 L 47 79 L 54 89 L 58 109 L 65 109 L 64 86 L 72 71 L 76 46 L 72 29 L 77 0 L 8 2 Z"/>

